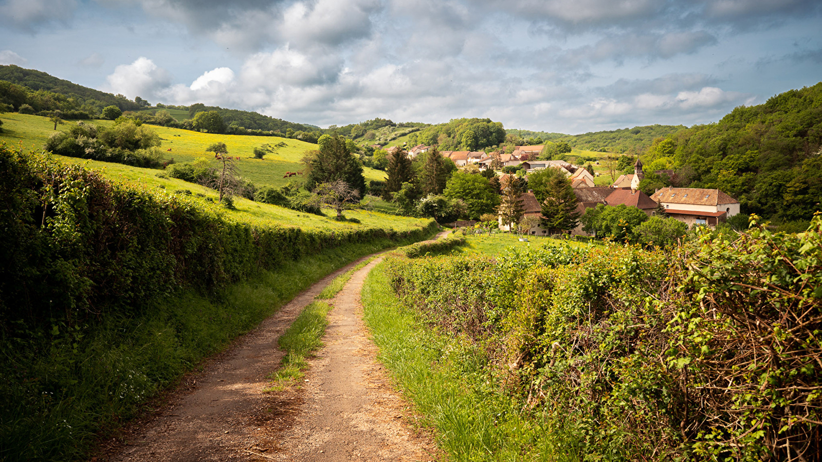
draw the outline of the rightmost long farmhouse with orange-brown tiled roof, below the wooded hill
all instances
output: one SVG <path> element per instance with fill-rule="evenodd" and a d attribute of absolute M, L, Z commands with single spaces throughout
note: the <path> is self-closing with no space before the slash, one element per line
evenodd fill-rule
<path fill-rule="evenodd" d="M 739 201 L 720 190 L 667 187 L 653 193 L 651 199 L 662 204 L 672 218 L 689 226 L 716 226 L 739 213 Z"/>

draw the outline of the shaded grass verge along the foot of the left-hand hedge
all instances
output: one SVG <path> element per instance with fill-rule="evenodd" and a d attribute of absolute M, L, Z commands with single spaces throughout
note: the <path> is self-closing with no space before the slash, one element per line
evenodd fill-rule
<path fill-rule="evenodd" d="M 97 437 L 139 414 L 152 396 L 205 356 L 224 349 L 329 272 L 389 245 L 395 244 L 343 245 L 287 261 L 214 295 L 181 291 L 135 318 L 105 317 L 85 336 L 66 336 L 64 329 L 81 329 L 55 324 L 53 338 L 36 340 L 50 345 L 48 356 L 0 348 L 0 364 L 7 364 L 0 381 L 0 460 L 84 458 Z M 0 345 L 10 341 L 0 331 Z M 38 382 L 52 385 L 46 389 Z"/>

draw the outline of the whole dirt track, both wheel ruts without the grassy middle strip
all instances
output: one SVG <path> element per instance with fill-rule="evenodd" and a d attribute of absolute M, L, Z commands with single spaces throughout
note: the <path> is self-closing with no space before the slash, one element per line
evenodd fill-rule
<path fill-rule="evenodd" d="M 409 429 L 413 416 L 387 385 L 375 347 L 364 335 L 359 296 L 376 262 L 355 272 L 333 300 L 326 346 L 312 360 L 302 387 L 262 392 L 266 374 L 283 357 L 277 339 L 324 286 L 354 263 L 303 291 L 210 359 L 202 373 L 188 377 L 159 406 L 155 418 L 127 429 L 124 442 L 113 441 L 100 459 L 432 460 L 432 441 Z"/>

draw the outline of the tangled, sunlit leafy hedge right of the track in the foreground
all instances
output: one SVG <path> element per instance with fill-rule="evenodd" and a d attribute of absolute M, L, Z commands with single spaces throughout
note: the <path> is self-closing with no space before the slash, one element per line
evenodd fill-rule
<path fill-rule="evenodd" d="M 817 460 L 822 217 L 734 236 L 388 264 L 406 309 L 484 351 L 500 387 L 474 392 L 519 400 L 520 454 Z"/>

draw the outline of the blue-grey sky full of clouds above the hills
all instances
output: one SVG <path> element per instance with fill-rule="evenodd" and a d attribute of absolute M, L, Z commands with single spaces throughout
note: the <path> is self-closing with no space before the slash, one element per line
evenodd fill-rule
<path fill-rule="evenodd" d="M 0 0 L 0 64 L 318 126 L 717 121 L 822 80 L 820 0 Z"/>

